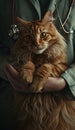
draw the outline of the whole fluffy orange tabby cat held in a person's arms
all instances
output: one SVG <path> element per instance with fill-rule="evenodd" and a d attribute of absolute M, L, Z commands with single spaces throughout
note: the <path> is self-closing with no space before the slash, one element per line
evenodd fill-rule
<path fill-rule="evenodd" d="M 74 101 L 65 99 L 61 92 L 37 93 L 49 76 L 58 77 L 67 68 L 67 44 L 53 23 L 51 11 L 39 21 L 17 20 L 20 35 L 13 54 L 20 78 L 35 93 L 16 92 L 16 129 L 75 130 Z"/>

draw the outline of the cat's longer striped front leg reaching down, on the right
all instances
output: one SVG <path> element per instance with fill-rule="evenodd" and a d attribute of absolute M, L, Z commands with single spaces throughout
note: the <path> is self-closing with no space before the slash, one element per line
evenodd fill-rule
<path fill-rule="evenodd" d="M 50 75 L 50 65 L 49 64 L 42 65 L 35 72 L 35 77 L 33 79 L 30 89 L 33 92 L 40 92 L 43 89 L 49 75 Z"/>

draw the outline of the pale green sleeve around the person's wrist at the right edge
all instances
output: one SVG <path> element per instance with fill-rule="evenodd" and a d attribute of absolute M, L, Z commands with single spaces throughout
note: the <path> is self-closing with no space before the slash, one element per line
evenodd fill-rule
<path fill-rule="evenodd" d="M 75 97 L 75 31 L 73 36 L 73 49 L 74 49 L 74 63 L 70 65 L 70 67 L 61 75 L 67 85 L 72 95 Z"/>

